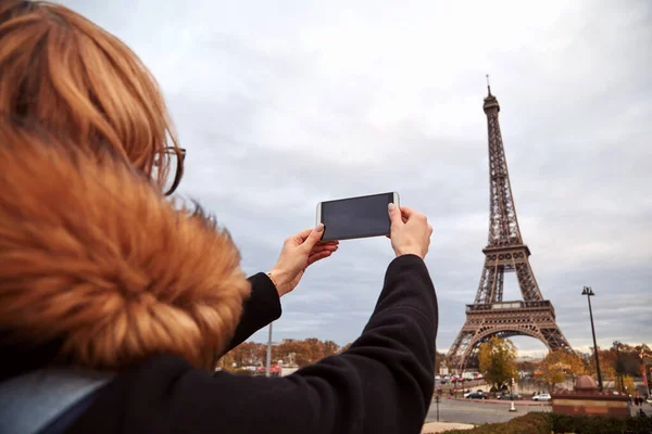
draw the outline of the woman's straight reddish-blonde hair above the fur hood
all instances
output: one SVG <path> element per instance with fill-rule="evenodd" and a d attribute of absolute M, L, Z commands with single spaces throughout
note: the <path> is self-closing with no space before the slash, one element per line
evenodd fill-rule
<path fill-rule="evenodd" d="M 115 36 L 70 9 L 0 2 L 0 114 L 32 118 L 100 154 L 110 146 L 163 187 L 183 163 L 156 81 Z M 155 171 L 155 174 L 154 174 Z"/>

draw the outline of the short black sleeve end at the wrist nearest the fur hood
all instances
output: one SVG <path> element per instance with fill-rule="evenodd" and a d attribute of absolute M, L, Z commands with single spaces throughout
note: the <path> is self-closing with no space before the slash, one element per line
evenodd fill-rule
<path fill-rule="evenodd" d="M 240 322 L 227 352 L 247 341 L 263 327 L 280 318 L 280 297 L 267 275 L 259 272 L 248 280 L 251 283 L 251 296 L 244 303 Z"/>

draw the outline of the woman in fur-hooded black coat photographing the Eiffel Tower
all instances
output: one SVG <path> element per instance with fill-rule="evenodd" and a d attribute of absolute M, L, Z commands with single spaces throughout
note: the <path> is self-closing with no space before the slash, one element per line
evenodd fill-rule
<path fill-rule="evenodd" d="M 419 432 L 437 331 L 425 216 L 390 207 L 397 258 L 347 352 L 286 378 L 213 375 L 336 245 L 303 231 L 246 279 L 228 233 L 161 194 L 166 146 L 181 151 L 137 58 L 62 7 L 0 4 L 0 112 L 21 119 L 0 124 L 0 432 Z"/>

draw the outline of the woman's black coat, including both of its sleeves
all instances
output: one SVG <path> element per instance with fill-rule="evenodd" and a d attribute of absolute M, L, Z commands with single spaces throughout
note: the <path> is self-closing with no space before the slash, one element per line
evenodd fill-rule
<path fill-rule="evenodd" d="M 234 345 L 279 315 L 278 296 L 260 288 Z M 284 378 L 213 376 L 180 357 L 153 357 L 103 386 L 67 432 L 419 433 L 434 391 L 437 318 L 424 261 L 401 256 L 362 335 L 341 355 Z"/>

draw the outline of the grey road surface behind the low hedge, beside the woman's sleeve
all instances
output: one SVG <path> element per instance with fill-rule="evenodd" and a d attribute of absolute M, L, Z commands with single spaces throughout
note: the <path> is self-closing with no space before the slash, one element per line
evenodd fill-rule
<path fill-rule="evenodd" d="M 522 401 L 521 401 L 522 403 Z M 523 416 L 530 411 L 550 411 L 547 404 L 519 405 L 514 401 L 517 411 L 510 411 L 510 401 L 475 401 L 463 399 L 441 399 L 439 403 L 439 421 L 441 422 L 463 422 L 463 423 L 493 423 L 506 422 L 510 419 Z M 528 403 L 530 404 L 530 403 Z M 437 421 L 437 405 L 435 400 L 430 404 L 426 422 Z"/>

